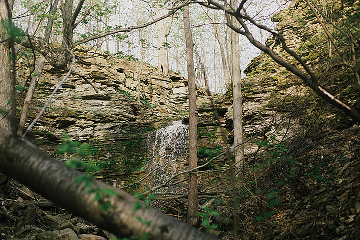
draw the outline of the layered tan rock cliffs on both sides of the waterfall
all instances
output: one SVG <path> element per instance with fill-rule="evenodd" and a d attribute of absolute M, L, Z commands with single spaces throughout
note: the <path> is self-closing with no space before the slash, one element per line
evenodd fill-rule
<path fill-rule="evenodd" d="M 294 3 L 289 9 L 276 13 L 273 21 L 278 22 L 277 29 L 283 32 L 288 46 L 300 49 L 307 64 L 316 70 L 320 68 L 320 53 L 326 44 L 322 41 L 324 33 L 319 23 L 308 13 L 306 4 Z M 273 37 L 267 39 L 266 44 L 280 56 L 287 55 Z M 171 71 L 163 76 L 157 68 L 148 64 L 114 58 L 87 47 L 77 47 L 76 54 L 79 57 L 74 70 L 89 76 L 89 81 L 99 92 L 96 93 L 80 76 L 69 77 L 33 129 L 36 141 L 58 143 L 62 133 L 67 132 L 72 140 L 91 142 L 93 158 L 103 161 L 109 170 L 123 166 L 122 163 L 125 166 L 135 164 L 131 168 L 144 170 L 149 159 L 146 150 L 148 135 L 169 126 L 176 119 L 185 118 L 183 122 L 186 123 L 187 80 Z M 285 58 L 294 62 L 291 57 Z M 245 72 L 247 77 L 242 81 L 242 99 L 244 148 L 248 155 L 256 153 L 258 142 L 277 143 L 295 135 L 299 138 L 309 135 L 311 124 L 313 133 L 322 131 L 315 120 L 320 114 L 322 118 L 327 118 L 333 112 L 337 113 L 317 98 L 299 78 L 274 63 L 266 54 L 253 59 Z M 64 76 L 50 65 L 45 66 L 44 73 L 34 96 L 32 118 Z M 341 83 L 346 77 L 338 71 L 332 79 Z M 336 90 L 339 96 L 347 98 L 344 91 L 336 89 L 336 86 L 330 85 L 328 89 Z M 216 119 L 206 95 L 198 91 L 199 149 L 215 148 L 217 145 L 224 147 L 220 126 L 225 128 L 225 136 L 232 143 L 231 95 L 230 90 L 215 103 L 220 115 L 220 119 Z M 354 102 L 356 100 L 352 100 Z M 332 110 L 324 112 L 329 109 Z M 344 117 L 336 121 L 344 124 Z M 352 126 L 351 122 L 349 124 Z M 130 168 L 125 169 L 127 175 L 128 170 Z M 117 175 L 116 172 L 111 174 Z"/>

